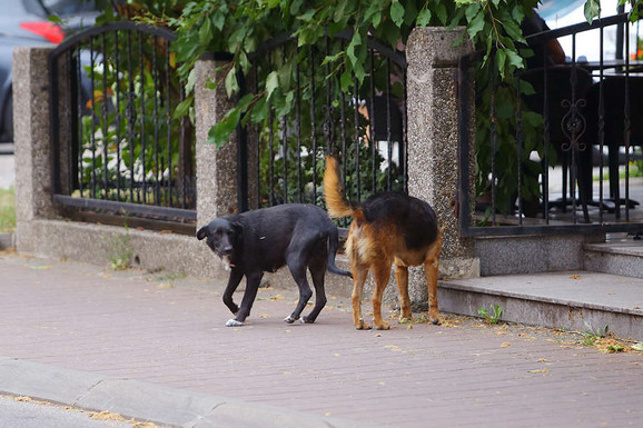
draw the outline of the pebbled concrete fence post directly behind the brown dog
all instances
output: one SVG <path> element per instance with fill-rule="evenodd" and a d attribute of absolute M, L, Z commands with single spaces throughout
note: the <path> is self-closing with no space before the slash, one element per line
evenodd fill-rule
<path fill-rule="evenodd" d="M 441 277 L 447 278 L 479 276 L 474 241 L 461 237 L 456 217 L 458 97 L 468 97 L 474 102 L 472 93 L 457 92 L 458 59 L 474 50 L 466 36 L 455 46 L 463 31 L 463 28 L 416 28 L 406 46 L 408 192 L 426 200 L 437 213 L 443 230 L 439 270 Z M 468 122 L 473 136 L 474 121 Z M 473 172 L 473 152 L 468 159 Z M 474 177 L 469 180 L 473 191 Z"/>

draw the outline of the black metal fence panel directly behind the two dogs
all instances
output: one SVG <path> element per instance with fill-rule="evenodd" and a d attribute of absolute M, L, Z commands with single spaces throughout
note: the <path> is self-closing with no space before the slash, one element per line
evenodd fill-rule
<path fill-rule="evenodd" d="M 308 54 L 296 40 L 270 40 L 250 56 L 253 72 L 244 93 L 265 88 L 256 82 L 295 56 L 288 76 L 295 82 L 291 108 L 280 113 L 269 106 L 259 126 L 240 133 L 247 175 L 248 205 L 260 208 L 285 202 L 323 205 L 325 155 L 342 163 L 347 197 L 362 200 L 375 191 L 407 189 L 406 175 L 406 60 L 402 52 L 368 41 L 366 78 L 352 78 L 352 92 L 342 90 L 340 74 L 330 73 L 324 59 L 333 47 L 344 46 L 350 33 L 326 38 Z"/>

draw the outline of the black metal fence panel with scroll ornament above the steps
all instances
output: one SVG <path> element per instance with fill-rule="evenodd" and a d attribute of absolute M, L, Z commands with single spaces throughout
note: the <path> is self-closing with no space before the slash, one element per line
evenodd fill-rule
<path fill-rule="evenodd" d="M 463 98 L 461 106 L 461 123 L 476 115 L 476 140 L 459 135 L 465 236 L 643 230 L 637 28 L 622 13 L 535 33 L 527 38 L 534 57 L 511 84 L 481 71 L 482 53 L 462 58 L 459 84 L 472 73 L 476 82 L 476 104 Z M 581 50 L 587 34 L 596 58 Z M 476 195 L 467 191 L 472 146 Z"/>

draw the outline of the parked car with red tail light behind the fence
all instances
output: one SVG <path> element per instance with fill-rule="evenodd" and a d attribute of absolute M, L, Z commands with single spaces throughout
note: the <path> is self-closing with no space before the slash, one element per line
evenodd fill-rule
<path fill-rule="evenodd" d="M 66 32 L 93 24 L 89 0 L 3 0 L 0 14 L 0 142 L 13 141 L 12 51 L 20 46 L 56 46 Z M 49 21 L 58 16 L 61 26 Z"/>

